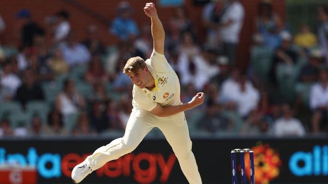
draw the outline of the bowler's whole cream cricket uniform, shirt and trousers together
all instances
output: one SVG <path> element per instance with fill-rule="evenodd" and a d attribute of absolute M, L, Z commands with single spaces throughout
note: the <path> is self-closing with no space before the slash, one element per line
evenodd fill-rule
<path fill-rule="evenodd" d="M 152 90 L 133 86 L 133 109 L 125 134 L 110 144 L 102 146 L 88 156 L 93 170 L 106 162 L 132 152 L 154 127 L 158 127 L 170 143 L 177 156 L 181 169 L 189 183 L 202 183 L 194 154 L 191 151 L 191 140 L 184 113 L 169 117 L 158 117 L 150 113 L 157 103 L 161 106 L 176 106 L 180 101 L 180 83 L 164 55 L 155 51 L 146 65 L 154 77 L 155 87 Z"/>

